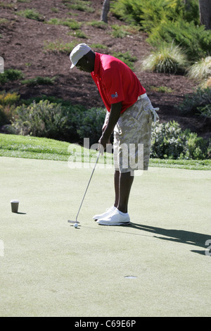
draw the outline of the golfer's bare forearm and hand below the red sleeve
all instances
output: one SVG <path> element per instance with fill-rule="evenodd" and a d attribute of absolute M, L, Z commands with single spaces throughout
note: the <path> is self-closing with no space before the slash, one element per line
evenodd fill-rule
<path fill-rule="evenodd" d="M 98 143 L 106 149 L 106 144 L 110 142 L 110 135 L 112 134 L 115 125 L 117 124 L 117 120 L 120 118 L 120 112 L 122 111 L 122 102 L 118 102 L 117 104 L 112 104 L 110 108 L 108 124 L 106 125 L 105 130 L 103 131 L 103 135 L 101 139 L 99 139 Z"/>

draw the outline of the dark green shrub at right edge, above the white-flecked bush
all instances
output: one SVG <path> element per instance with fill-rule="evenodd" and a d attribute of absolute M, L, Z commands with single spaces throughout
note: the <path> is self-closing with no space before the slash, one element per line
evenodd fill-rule
<path fill-rule="evenodd" d="M 207 87 L 206 89 L 201 89 L 198 87 L 197 91 L 191 95 L 186 95 L 182 104 L 178 106 L 179 110 L 186 113 L 193 113 L 206 115 L 210 117 L 209 109 L 211 108 L 211 89 Z M 206 112 L 207 110 L 207 112 Z"/>

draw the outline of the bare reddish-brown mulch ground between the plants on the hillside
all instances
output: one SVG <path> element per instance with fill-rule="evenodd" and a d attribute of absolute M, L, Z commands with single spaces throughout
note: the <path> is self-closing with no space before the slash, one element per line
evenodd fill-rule
<path fill-rule="evenodd" d="M 22 0 L 23 1 L 23 0 Z M 74 1 L 73 1 L 74 2 Z M 83 104 L 87 107 L 102 106 L 101 97 L 89 73 L 81 73 L 76 68 L 70 71 L 69 52 L 45 51 L 44 46 L 49 42 L 70 43 L 74 40 L 85 42 L 89 45 L 103 44 L 106 50 L 93 48 L 94 51 L 113 54 L 116 51 L 122 53 L 129 51 L 136 56 L 135 73 L 154 106 L 160 107 L 160 120 L 177 120 L 181 127 L 190 128 L 193 132 L 203 137 L 209 137 L 208 123 L 197 116 L 185 117 L 177 110 L 175 105 L 180 104 L 185 94 L 191 94 L 197 86 L 183 75 L 165 75 L 158 73 L 146 73 L 141 71 L 141 60 L 151 52 L 151 46 L 146 42 L 143 32 L 133 33 L 124 38 L 114 38 L 111 35 L 111 25 L 122 25 L 111 13 L 108 16 L 108 27 L 101 29 L 92 27 L 87 23 L 100 20 L 102 0 L 91 0 L 90 7 L 93 12 L 73 10 L 65 6 L 63 0 L 33 0 L 33 1 L 9 1 L 4 0 L 1 6 L 0 25 L 0 56 L 4 57 L 5 69 L 15 68 L 22 70 L 25 79 L 45 76 L 55 77 L 53 85 L 38 85 L 29 87 L 20 82 L 10 82 L 0 87 L 1 90 L 15 90 L 23 99 L 46 94 L 57 96 L 70 101 L 72 104 Z M 9 5 L 9 6 L 7 6 Z M 41 20 L 32 20 L 18 15 L 19 11 L 26 8 L 34 8 L 39 11 Z M 69 27 L 63 25 L 49 25 L 51 18 L 73 18 L 82 23 L 81 31 L 86 39 L 70 35 L 74 33 Z M 70 49 L 71 51 L 71 49 Z M 172 92 L 155 92 L 153 87 L 168 87 Z"/>

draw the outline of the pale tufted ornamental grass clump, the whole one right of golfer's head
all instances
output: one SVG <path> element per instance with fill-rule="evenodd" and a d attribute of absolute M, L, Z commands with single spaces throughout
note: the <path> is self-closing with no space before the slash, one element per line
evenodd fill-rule
<path fill-rule="evenodd" d="M 183 73 L 186 65 L 186 55 L 179 46 L 174 46 L 174 44 L 160 46 L 142 62 L 143 70 L 157 73 Z"/>

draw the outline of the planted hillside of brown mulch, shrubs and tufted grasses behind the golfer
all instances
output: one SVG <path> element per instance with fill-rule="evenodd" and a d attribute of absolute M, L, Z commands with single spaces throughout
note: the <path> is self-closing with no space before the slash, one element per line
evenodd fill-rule
<path fill-rule="evenodd" d="M 97 142 L 105 109 L 89 74 L 70 72 L 79 42 L 122 59 L 155 106 L 153 158 L 210 158 L 210 30 L 198 1 L 1 1 L 1 132 Z M 156 132 L 156 134 L 155 134 Z"/>

